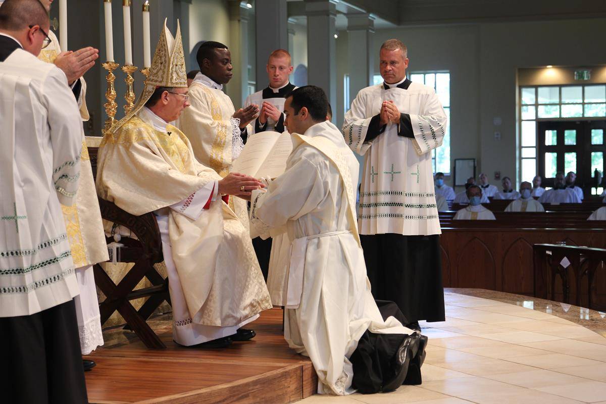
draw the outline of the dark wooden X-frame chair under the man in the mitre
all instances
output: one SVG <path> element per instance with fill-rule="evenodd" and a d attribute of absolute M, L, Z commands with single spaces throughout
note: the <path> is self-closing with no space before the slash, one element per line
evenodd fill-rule
<path fill-rule="evenodd" d="M 89 147 L 88 154 L 93 168 L 93 176 L 96 178 L 98 148 Z M 132 329 L 147 348 L 166 348 L 166 345 L 154 333 L 147 324 L 147 319 L 153 314 L 162 302 L 170 304 L 168 294 L 168 278 L 164 279 L 154 268 L 155 263 L 162 262 L 162 240 L 158 222 L 152 213 L 141 216 L 133 216 L 127 211 L 117 207 L 112 202 L 99 198 L 101 217 L 128 228 L 136 235 L 122 237 L 120 243 L 124 247 L 119 248 L 116 262 L 134 263 L 128 273 L 118 282 L 115 282 L 104 271 L 101 265 L 96 264 L 94 268 L 95 282 L 99 289 L 105 294 L 105 300 L 99 303 L 101 312 L 101 323 L 105 323 L 114 311 L 118 311 L 126 321 L 125 329 Z M 107 238 L 107 243 L 113 242 L 112 237 Z M 135 290 L 142 279 L 147 278 L 151 286 Z M 136 310 L 130 303 L 131 300 L 147 297 L 145 303 Z"/>

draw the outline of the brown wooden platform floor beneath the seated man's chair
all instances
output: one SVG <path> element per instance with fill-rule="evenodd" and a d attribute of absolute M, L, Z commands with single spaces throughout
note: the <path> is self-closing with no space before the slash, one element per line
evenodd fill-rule
<path fill-rule="evenodd" d="M 133 333 L 104 332 L 105 346 L 88 359 L 90 403 L 290 403 L 311 396 L 311 361 L 288 348 L 282 310 L 265 311 L 247 326 L 255 339 L 224 349 L 185 348 L 172 340 L 170 316 L 150 322 L 167 349 L 147 349 Z"/>

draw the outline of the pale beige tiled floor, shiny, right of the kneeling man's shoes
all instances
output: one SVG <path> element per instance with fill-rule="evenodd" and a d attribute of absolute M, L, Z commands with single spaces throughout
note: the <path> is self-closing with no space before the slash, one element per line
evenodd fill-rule
<path fill-rule="evenodd" d="M 447 289 L 445 303 L 445 322 L 421 324 L 422 385 L 299 403 L 606 404 L 604 313 L 487 290 Z"/>

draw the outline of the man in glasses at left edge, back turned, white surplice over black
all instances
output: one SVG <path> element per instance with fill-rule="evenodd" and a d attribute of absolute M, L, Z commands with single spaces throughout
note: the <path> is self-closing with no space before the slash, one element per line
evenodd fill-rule
<path fill-rule="evenodd" d="M 61 204 L 78 190 L 82 121 L 48 44 L 38 0 L 0 7 L 0 378 L 2 402 L 85 403 Z"/>

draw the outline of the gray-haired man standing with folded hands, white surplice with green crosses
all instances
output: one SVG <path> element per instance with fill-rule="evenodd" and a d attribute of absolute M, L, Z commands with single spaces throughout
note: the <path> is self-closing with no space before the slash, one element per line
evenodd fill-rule
<path fill-rule="evenodd" d="M 406 78 L 407 48 L 381 46 L 382 84 L 362 89 L 342 133 L 364 155 L 358 227 L 376 299 L 396 302 L 410 321 L 444 321 L 444 289 L 431 150 L 446 114 L 431 87 Z"/>

